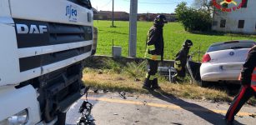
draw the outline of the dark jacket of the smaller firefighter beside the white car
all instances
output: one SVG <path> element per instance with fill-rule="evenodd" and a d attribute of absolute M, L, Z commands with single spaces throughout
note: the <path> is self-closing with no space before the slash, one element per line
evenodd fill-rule
<path fill-rule="evenodd" d="M 186 66 L 187 60 L 188 60 L 188 52 L 189 47 L 183 47 L 175 57 L 174 67 L 181 71 L 183 67 Z"/>

